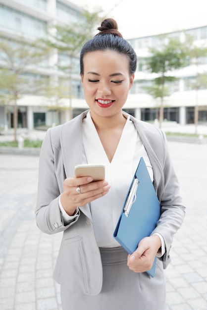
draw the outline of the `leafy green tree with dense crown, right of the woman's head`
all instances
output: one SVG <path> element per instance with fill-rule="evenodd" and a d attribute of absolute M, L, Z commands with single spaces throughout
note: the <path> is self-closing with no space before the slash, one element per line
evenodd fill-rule
<path fill-rule="evenodd" d="M 154 98 L 160 98 L 159 107 L 159 127 L 163 121 L 163 102 L 166 96 L 166 83 L 172 82 L 176 78 L 171 75 L 172 70 L 186 66 L 186 48 L 175 38 L 165 38 L 166 43 L 158 48 L 150 48 L 150 57 L 147 59 L 147 68 L 150 72 L 158 76 L 154 79 Z M 148 92 L 153 94 L 153 88 L 148 88 Z"/>

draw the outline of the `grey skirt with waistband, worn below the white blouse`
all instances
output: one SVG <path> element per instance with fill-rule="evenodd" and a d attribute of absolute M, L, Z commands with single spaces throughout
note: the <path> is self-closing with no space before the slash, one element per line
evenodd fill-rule
<path fill-rule="evenodd" d="M 99 295 L 69 292 L 60 286 L 62 310 L 164 310 L 165 279 L 157 259 L 155 277 L 136 273 L 127 266 L 128 253 L 122 248 L 100 248 L 103 287 Z"/>

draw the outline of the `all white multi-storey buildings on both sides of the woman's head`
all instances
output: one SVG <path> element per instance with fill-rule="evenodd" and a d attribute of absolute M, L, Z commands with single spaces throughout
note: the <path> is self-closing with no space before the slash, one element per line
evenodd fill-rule
<path fill-rule="evenodd" d="M 63 25 L 77 21 L 81 8 L 68 0 L 0 0 L 0 40 L 9 38 L 18 40 L 24 36 L 28 41 L 46 36 L 47 29 L 52 24 Z M 166 34 L 183 40 L 186 34 L 191 34 L 194 42 L 207 46 L 207 26 L 188 29 Z M 138 56 L 138 67 L 134 85 L 130 91 L 124 109 L 137 118 L 152 121 L 157 118 L 159 103 L 145 93 L 143 86 L 153 83 L 154 75 L 146 71 L 145 59 L 149 55 L 148 48 L 155 47 L 162 42 L 159 36 L 148 36 L 128 40 Z M 55 79 L 59 85 L 68 88 L 68 81 L 63 79 L 62 72 L 55 66 L 64 63 L 66 55 L 52 53 L 46 62 L 39 67 L 29 70 L 27 78 L 31 84 L 43 78 Z M 0 67 L 2 67 L 0 58 Z M 87 109 L 83 99 L 83 91 L 79 76 L 79 59 L 75 59 L 77 74 L 72 78 L 73 116 Z M 196 91 L 193 84 L 196 80 L 196 65 L 192 64 L 173 72 L 176 82 L 169 85 L 170 96 L 164 101 L 164 118 L 180 124 L 194 122 Z M 207 74 L 207 56 L 200 59 L 199 72 Z M 2 92 L 2 90 L 1 90 Z M 57 107 L 58 105 L 58 107 Z M 199 122 L 207 122 L 207 86 L 198 91 Z M 18 100 L 18 127 L 29 130 L 38 126 L 52 126 L 67 120 L 66 110 L 69 106 L 68 98 L 61 99 L 58 104 L 41 95 L 41 93 L 23 94 Z M 3 104 L 0 98 L 0 127 L 8 126 L 9 115 L 12 115 L 12 104 Z M 10 118 L 12 119 L 12 118 Z M 12 122 L 11 122 L 12 125 Z"/>

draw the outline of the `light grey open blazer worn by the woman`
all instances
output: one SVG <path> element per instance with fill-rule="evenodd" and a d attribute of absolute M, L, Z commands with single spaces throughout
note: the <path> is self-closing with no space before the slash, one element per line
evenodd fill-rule
<path fill-rule="evenodd" d="M 79 215 L 64 226 L 58 206 L 63 181 L 74 176 L 74 166 L 82 162 L 82 119 L 86 112 L 71 121 L 48 130 L 39 162 L 36 207 L 38 227 L 47 234 L 64 231 L 54 279 L 71 292 L 97 295 L 102 289 L 102 262 L 97 245 L 90 207 L 79 208 Z M 162 235 L 165 254 L 160 260 L 166 268 L 173 235 L 180 228 L 185 213 L 178 180 L 172 166 L 163 132 L 155 126 L 130 116 L 149 155 L 154 171 L 154 187 L 161 204 L 161 216 L 153 233 Z M 160 260 L 157 259 L 160 264 Z"/>

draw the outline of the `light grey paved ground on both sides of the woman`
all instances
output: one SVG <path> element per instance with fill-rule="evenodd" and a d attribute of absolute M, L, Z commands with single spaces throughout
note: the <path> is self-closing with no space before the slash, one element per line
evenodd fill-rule
<path fill-rule="evenodd" d="M 169 142 L 186 210 L 165 270 L 166 310 L 207 310 L 207 144 Z M 61 234 L 36 226 L 38 156 L 0 155 L 0 310 L 61 310 Z M 153 310 L 153 309 L 152 309 Z"/>

